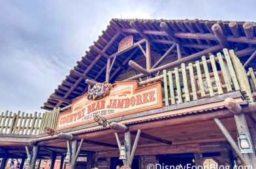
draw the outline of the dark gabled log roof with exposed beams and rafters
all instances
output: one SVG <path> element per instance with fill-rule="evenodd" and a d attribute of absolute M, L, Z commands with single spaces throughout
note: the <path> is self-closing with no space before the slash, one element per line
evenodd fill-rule
<path fill-rule="evenodd" d="M 218 24 L 223 37 L 219 37 L 213 30 L 213 25 Z M 252 25 L 252 26 L 251 26 Z M 165 29 L 165 26 L 170 31 Z M 86 55 L 78 60 L 76 66 L 69 75 L 58 85 L 54 93 L 50 95 L 42 109 L 65 107 L 72 99 L 84 94 L 88 90 L 85 79 L 98 82 L 105 81 L 106 60 L 108 57 L 116 57 L 116 61 L 110 72 L 110 83 L 115 81 L 123 70 L 127 70 L 128 61 L 142 55 L 138 47 L 125 53 L 118 52 L 118 43 L 125 36 L 133 35 L 135 43 L 143 39 L 152 42 L 151 49 L 157 53 L 163 53 L 176 41 L 179 42 L 184 56 L 198 53 L 209 47 L 220 44 L 238 51 L 236 55 L 246 62 L 256 47 L 256 24 L 244 21 L 209 21 L 199 19 L 112 19 L 103 34 L 89 47 Z M 223 38 L 223 39 L 221 39 Z M 173 50 L 170 55 L 177 51 Z M 255 63 L 255 60 L 253 60 Z M 255 64 L 247 65 L 255 67 Z"/>

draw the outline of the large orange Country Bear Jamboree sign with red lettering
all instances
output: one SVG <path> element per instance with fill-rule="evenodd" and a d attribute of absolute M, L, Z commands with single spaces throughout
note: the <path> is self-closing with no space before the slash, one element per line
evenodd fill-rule
<path fill-rule="evenodd" d="M 95 116 L 109 119 L 163 107 L 160 82 L 137 87 L 136 81 L 120 81 L 102 99 L 88 99 L 87 93 L 82 95 L 73 101 L 71 110 L 58 114 L 56 130 L 94 123 Z"/>

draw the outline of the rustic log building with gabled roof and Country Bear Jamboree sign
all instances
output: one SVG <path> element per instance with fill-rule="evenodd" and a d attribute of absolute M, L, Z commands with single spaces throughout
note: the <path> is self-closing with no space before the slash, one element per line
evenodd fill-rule
<path fill-rule="evenodd" d="M 255 34 L 244 21 L 112 19 L 48 112 L 1 114 L 1 168 L 256 168 Z"/>

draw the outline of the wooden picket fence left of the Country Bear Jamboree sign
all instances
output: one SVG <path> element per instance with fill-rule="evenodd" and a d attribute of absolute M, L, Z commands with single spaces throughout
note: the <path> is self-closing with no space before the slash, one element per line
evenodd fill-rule
<path fill-rule="evenodd" d="M 2 112 L 0 116 L 0 133 L 19 135 L 39 135 L 44 133 L 44 127 L 54 129 L 59 109 L 50 112 L 25 113 L 18 111 Z"/>

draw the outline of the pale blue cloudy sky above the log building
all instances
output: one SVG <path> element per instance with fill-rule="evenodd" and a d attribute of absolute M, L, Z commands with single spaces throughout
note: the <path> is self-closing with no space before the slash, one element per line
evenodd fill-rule
<path fill-rule="evenodd" d="M 0 1 L 0 112 L 40 107 L 112 18 L 256 21 L 256 1 Z"/>

